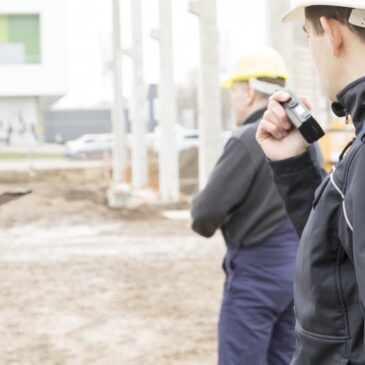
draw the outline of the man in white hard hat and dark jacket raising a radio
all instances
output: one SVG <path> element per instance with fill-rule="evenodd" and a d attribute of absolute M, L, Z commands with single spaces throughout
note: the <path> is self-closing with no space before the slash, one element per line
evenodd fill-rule
<path fill-rule="evenodd" d="M 292 365 L 364 365 L 365 1 L 293 1 L 285 19 L 301 16 L 333 111 L 356 138 L 325 176 L 286 117 L 286 93 L 271 98 L 257 131 L 301 235 Z"/>

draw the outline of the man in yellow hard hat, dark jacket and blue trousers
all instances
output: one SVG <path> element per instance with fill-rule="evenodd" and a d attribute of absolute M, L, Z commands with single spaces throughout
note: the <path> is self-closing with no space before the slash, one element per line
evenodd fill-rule
<path fill-rule="evenodd" d="M 285 84 L 280 55 L 243 58 L 223 84 L 239 128 L 192 207 L 192 228 L 221 229 L 227 254 L 219 319 L 220 365 L 287 365 L 294 352 L 293 276 L 298 236 L 255 140 L 268 95 Z"/>

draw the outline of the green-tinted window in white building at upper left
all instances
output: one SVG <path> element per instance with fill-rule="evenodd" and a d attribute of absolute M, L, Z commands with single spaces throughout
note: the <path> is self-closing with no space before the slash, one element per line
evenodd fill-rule
<path fill-rule="evenodd" d="M 38 14 L 0 14 L 0 64 L 40 63 Z"/>

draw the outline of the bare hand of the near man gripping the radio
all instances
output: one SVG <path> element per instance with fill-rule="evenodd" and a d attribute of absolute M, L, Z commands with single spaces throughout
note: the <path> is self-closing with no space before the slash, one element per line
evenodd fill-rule
<path fill-rule="evenodd" d="M 272 161 L 301 155 L 310 146 L 298 129 L 290 123 L 280 103 L 290 100 L 290 95 L 279 91 L 271 96 L 268 108 L 257 129 L 256 140 L 265 155 Z M 308 101 L 302 98 L 308 109 Z"/>

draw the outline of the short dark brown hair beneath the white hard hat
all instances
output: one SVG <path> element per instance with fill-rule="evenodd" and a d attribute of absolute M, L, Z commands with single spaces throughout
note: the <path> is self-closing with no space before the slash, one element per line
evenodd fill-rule
<path fill-rule="evenodd" d="M 346 25 L 363 42 L 365 42 L 365 28 L 358 27 L 349 23 L 349 18 L 353 8 L 341 6 L 315 5 L 305 8 L 305 17 L 311 22 L 317 34 L 323 34 L 320 18 L 324 16 L 328 19 L 335 19 L 341 24 Z"/>

